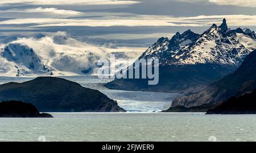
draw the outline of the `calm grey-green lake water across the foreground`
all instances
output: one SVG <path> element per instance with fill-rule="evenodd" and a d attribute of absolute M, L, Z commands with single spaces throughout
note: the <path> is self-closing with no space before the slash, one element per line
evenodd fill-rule
<path fill-rule="evenodd" d="M 1 141 L 255 141 L 256 115 L 80 113 L 0 118 Z"/>

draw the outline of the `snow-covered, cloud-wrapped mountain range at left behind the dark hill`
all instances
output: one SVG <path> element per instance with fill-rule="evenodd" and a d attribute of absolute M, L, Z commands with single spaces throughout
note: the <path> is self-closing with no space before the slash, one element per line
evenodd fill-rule
<path fill-rule="evenodd" d="M 127 67 L 136 59 L 133 49 L 97 47 L 73 39 L 65 32 L 18 38 L 0 46 L 0 76 L 94 75 L 97 61 L 116 55 L 116 65 Z"/>

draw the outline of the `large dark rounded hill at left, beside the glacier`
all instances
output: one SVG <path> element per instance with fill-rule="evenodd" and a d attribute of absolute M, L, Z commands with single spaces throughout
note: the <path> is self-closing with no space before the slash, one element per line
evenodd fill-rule
<path fill-rule="evenodd" d="M 0 101 L 24 101 L 44 112 L 125 112 L 98 90 L 57 77 L 0 85 Z"/>

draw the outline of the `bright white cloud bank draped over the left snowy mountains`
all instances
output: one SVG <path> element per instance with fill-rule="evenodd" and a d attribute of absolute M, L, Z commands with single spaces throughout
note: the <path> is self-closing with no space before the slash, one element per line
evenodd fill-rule
<path fill-rule="evenodd" d="M 97 73 L 96 63 L 100 59 L 109 59 L 111 53 L 115 53 L 117 61 L 115 66 L 125 64 L 123 68 L 128 67 L 146 48 L 105 48 L 98 47 L 92 44 L 80 42 L 67 35 L 66 32 L 56 32 L 46 34 L 40 38 L 34 37 L 20 37 L 9 43 L 18 43 L 33 48 L 36 55 L 40 57 L 40 60 L 46 67 L 53 70 L 55 76 L 60 75 L 77 75 L 82 74 L 81 71 L 89 68 L 93 69 L 93 72 Z M 7 44 L 9 44 L 7 43 Z M 0 47 L 4 47 L 0 44 Z M 133 59 L 130 63 L 126 60 L 120 59 L 126 57 L 127 59 Z M 0 57 L 1 60 L 1 57 Z M 3 63 L 5 64 L 5 63 Z M 13 66 L 14 67 L 14 66 Z M 20 67 L 20 65 L 19 65 Z M 16 69 L 14 75 L 16 74 Z"/>

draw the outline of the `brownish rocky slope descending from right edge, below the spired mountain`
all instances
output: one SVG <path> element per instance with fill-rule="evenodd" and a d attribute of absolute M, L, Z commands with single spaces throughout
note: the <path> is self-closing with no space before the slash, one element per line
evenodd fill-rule
<path fill-rule="evenodd" d="M 177 98 L 167 111 L 206 111 L 209 107 L 256 89 L 256 50 L 232 74 L 213 82 L 200 92 Z M 192 109 L 193 108 L 193 109 Z"/>

